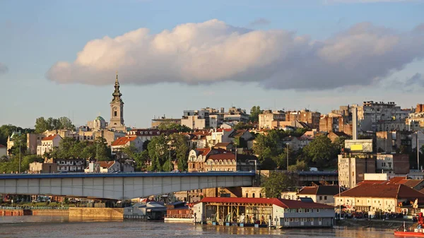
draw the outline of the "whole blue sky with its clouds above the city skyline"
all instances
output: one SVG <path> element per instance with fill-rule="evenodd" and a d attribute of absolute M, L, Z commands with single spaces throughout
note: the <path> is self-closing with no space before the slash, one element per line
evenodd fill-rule
<path fill-rule="evenodd" d="M 0 1 L 0 125 L 424 103 L 421 0 Z"/>

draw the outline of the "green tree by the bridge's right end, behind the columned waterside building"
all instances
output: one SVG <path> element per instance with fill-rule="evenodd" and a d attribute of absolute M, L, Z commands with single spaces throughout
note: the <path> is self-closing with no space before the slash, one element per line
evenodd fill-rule
<path fill-rule="evenodd" d="M 280 198 L 281 192 L 293 186 L 293 181 L 283 172 L 271 172 L 262 183 L 262 192 L 267 198 Z"/>

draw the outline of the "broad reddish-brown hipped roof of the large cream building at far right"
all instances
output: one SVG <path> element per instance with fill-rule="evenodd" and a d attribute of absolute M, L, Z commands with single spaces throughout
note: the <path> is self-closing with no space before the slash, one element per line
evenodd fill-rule
<path fill-rule="evenodd" d="M 335 195 L 334 197 L 338 196 Z M 372 197 L 372 198 L 424 198 L 424 194 L 411 189 L 404 184 L 360 184 L 348 191 L 343 191 L 344 197 Z"/>

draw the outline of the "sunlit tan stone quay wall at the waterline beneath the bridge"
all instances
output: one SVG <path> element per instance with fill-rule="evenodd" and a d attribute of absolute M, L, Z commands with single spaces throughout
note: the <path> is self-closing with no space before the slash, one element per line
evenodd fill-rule
<path fill-rule="evenodd" d="M 69 217 L 124 219 L 124 208 L 69 208 Z"/>

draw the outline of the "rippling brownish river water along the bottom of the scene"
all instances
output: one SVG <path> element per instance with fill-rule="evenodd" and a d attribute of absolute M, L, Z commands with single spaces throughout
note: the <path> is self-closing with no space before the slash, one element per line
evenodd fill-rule
<path fill-rule="evenodd" d="M 336 227 L 334 229 L 269 230 L 191 223 L 140 220 L 86 220 L 60 216 L 0 217 L 0 237 L 363 237 L 393 238 L 393 230 Z"/>

